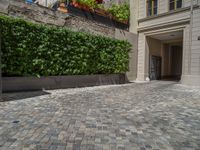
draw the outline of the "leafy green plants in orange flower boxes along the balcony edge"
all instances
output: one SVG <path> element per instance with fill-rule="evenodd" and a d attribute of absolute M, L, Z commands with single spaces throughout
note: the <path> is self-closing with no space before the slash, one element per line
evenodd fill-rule
<path fill-rule="evenodd" d="M 130 15 L 128 3 L 112 4 L 108 8 L 102 2 L 102 0 L 71 0 L 68 10 L 81 17 L 127 29 Z"/>

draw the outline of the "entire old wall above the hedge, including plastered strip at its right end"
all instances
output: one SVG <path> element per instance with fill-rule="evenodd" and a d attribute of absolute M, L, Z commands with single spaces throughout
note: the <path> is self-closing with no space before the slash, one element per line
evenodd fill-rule
<path fill-rule="evenodd" d="M 133 49 L 130 52 L 130 66 L 128 79 L 133 81 L 136 78 L 136 60 L 137 60 L 137 35 L 125 30 L 116 29 L 87 17 L 72 16 L 70 14 L 53 11 L 49 8 L 38 6 L 36 4 L 26 4 L 22 0 L 0 0 L 0 13 L 8 16 L 23 18 L 34 23 L 43 23 L 68 27 L 75 31 L 85 31 L 92 34 L 106 37 L 128 40 Z"/>

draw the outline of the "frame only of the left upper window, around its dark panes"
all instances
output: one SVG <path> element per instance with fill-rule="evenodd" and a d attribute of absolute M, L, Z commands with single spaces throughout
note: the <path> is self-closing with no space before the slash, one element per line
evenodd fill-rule
<path fill-rule="evenodd" d="M 155 1 L 157 1 L 157 6 L 155 7 Z M 158 15 L 158 1 L 159 0 L 146 0 L 146 15 L 147 17 Z M 151 2 L 151 8 L 149 8 L 149 2 Z M 149 10 L 151 9 L 151 14 L 149 14 Z M 155 13 L 156 9 L 156 14 Z"/>

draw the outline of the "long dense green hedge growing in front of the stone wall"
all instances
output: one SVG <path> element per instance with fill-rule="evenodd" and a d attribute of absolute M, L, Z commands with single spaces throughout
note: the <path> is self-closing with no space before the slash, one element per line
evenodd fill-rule
<path fill-rule="evenodd" d="M 127 41 L 0 16 L 4 76 L 123 73 Z"/>

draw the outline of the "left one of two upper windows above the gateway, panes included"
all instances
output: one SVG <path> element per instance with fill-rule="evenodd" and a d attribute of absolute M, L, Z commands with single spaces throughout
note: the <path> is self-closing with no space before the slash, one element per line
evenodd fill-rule
<path fill-rule="evenodd" d="M 158 0 L 147 0 L 147 16 L 157 15 Z"/>

